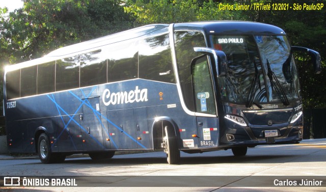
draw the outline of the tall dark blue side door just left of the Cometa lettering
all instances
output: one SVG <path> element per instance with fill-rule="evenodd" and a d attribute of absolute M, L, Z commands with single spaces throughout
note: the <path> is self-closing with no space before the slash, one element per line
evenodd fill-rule
<path fill-rule="evenodd" d="M 84 151 L 103 150 L 99 97 L 86 99 L 83 105 L 83 114 L 80 114 L 79 118 Z"/>

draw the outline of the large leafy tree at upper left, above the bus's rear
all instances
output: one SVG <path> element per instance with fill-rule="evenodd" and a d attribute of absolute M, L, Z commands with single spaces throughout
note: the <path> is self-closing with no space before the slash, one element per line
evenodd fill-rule
<path fill-rule="evenodd" d="M 7 8 L 0 9 L 2 74 L 4 65 L 39 58 L 63 46 L 129 29 L 134 21 L 131 14 L 124 13 L 120 0 L 23 2 L 23 8 L 8 16 Z"/>

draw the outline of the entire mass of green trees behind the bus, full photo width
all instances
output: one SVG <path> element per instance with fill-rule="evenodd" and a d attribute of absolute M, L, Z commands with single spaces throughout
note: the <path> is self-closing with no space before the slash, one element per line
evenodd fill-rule
<path fill-rule="evenodd" d="M 220 5 L 324 3 L 325 0 L 23 0 L 0 9 L 0 64 L 41 57 L 51 50 L 150 23 L 247 20 L 283 28 L 295 46 L 321 54 L 326 66 L 326 8 L 315 11 L 223 10 Z M 326 73 L 315 75 L 307 56 L 295 56 L 305 108 L 326 108 Z M 1 70 L 1 73 L 2 70 Z M 1 78 L 2 79 L 2 78 Z M 2 83 L 1 83 L 2 86 Z M 2 89 L 1 89 L 2 90 Z"/>

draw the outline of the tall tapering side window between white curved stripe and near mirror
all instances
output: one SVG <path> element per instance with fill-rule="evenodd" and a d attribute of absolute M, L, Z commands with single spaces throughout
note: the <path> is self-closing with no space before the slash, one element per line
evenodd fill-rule
<path fill-rule="evenodd" d="M 191 62 L 200 55 L 194 47 L 206 47 L 204 35 L 198 31 L 176 31 L 175 50 L 179 70 L 180 85 L 187 108 L 195 111 L 195 98 L 192 87 Z"/>

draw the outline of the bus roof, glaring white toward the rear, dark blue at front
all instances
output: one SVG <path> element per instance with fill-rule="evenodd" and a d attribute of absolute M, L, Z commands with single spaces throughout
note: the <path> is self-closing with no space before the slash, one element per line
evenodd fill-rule
<path fill-rule="evenodd" d="M 25 68 L 33 65 L 38 65 L 44 62 L 63 58 L 64 56 L 77 54 L 85 50 L 94 50 L 101 46 L 117 43 L 120 41 L 133 39 L 144 36 L 161 28 L 168 28 L 169 24 L 151 24 L 138 28 L 122 31 L 120 33 L 104 36 L 90 41 L 73 44 L 62 47 L 50 52 L 44 57 L 18 63 L 16 65 L 7 66 L 5 71 L 13 71 L 20 68 Z M 269 24 L 248 22 L 248 21 L 199 21 L 188 23 L 176 23 L 176 30 L 182 29 L 200 29 L 210 34 L 268 34 L 268 35 L 285 35 L 283 29 Z"/>

